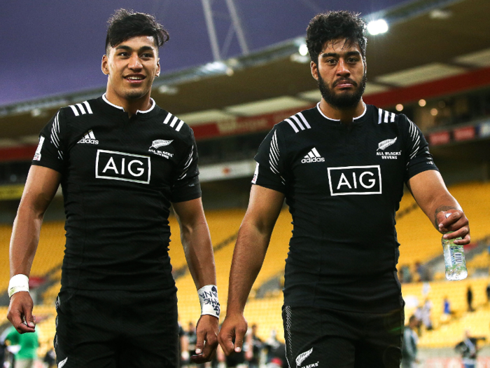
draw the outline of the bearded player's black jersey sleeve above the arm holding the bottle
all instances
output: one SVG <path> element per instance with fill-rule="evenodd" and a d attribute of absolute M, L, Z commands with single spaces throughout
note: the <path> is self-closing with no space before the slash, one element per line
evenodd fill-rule
<path fill-rule="evenodd" d="M 407 126 L 407 170 L 405 182 L 426 170 L 439 170 L 429 152 L 428 143 L 418 126 L 405 116 Z"/>

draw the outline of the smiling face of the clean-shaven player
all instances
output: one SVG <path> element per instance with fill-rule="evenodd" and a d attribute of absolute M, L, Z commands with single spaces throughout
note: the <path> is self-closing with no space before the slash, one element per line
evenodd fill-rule
<path fill-rule="evenodd" d="M 109 76 L 107 95 L 111 102 L 149 98 L 155 76 L 160 74 L 158 48 L 152 36 L 136 36 L 109 48 L 102 58 L 102 71 Z"/>

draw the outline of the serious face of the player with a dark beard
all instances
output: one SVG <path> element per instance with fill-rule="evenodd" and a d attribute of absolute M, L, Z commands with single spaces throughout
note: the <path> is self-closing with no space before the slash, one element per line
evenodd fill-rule
<path fill-rule="evenodd" d="M 351 109 L 360 103 L 366 84 L 363 55 L 346 39 L 325 42 L 318 63 L 311 62 L 323 100 L 335 109 Z"/>

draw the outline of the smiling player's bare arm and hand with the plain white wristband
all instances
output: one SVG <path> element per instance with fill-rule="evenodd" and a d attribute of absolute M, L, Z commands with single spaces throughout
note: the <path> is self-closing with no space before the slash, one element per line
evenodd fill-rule
<path fill-rule="evenodd" d="M 55 196 L 61 174 L 50 168 L 32 165 L 20 200 L 10 238 L 10 277 L 31 273 L 39 241 L 44 212 Z M 34 332 L 32 299 L 28 292 L 17 292 L 10 298 L 7 318 L 21 334 Z M 22 323 L 27 322 L 27 325 Z"/>

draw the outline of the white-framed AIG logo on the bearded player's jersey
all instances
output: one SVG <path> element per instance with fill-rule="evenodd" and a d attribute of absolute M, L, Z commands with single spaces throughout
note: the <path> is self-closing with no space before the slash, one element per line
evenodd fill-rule
<path fill-rule="evenodd" d="M 328 168 L 330 195 L 381 194 L 381 168 L 372 166 L 346 166 Z"/>

